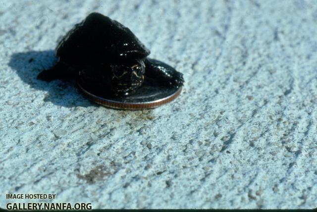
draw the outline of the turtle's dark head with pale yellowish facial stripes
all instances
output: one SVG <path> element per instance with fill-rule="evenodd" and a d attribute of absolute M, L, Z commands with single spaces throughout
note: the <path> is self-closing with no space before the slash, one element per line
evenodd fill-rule
<path fill-rule="evenodd" d="M 143 84 L 145 64 L 143 59 L 129 60 L 111 65 L 111 89 L 117 96 L 126 96 Z"/>

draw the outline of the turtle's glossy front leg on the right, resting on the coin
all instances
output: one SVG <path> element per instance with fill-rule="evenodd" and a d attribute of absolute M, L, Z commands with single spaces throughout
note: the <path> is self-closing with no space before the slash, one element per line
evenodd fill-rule
<path fill-rule="evenodd" d="M 159 60 L 146 58 L 145 77 L 156 79 L 163 85 L 180 87 L 184 83 L 183 74 Z"/>

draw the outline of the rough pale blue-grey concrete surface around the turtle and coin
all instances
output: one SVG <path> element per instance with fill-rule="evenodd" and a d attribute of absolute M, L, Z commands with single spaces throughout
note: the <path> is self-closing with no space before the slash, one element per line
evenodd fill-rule
<path fill-rule="evenodd" d="M 36 79 L 93 11 L 184 74 L 177 100 L 112 110 Z M 316 1 L 0 1 L 2 208 L 7 193 L 93 209 L 316 208 L 316 132 Z"/>

